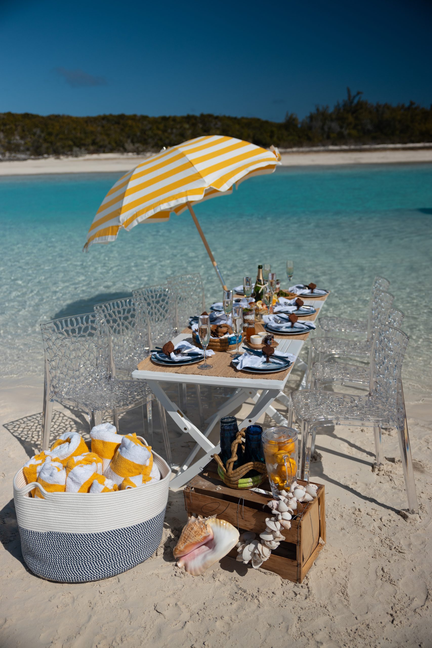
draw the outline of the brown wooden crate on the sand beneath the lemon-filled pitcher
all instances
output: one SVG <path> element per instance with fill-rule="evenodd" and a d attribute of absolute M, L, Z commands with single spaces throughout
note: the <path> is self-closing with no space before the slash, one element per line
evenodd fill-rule
<path fill-rule="evenodd" d="M 299 483 L 304 483 L 299 480 Z M 270 491 L 268 481 L 260 489 Z M 262 569 L 275 572 L 280 577 L 301 583 L 326 542 L 324 486 L 318 485 L 317 498 L 310 503 L 299 503 L 297 515 L 291 520 L 291 529 L 280 532 L 285 540 L 271 552 Z M 266 506 L 272 498 L 253 491 L 230 489 L 218 476 L 215 461 L 210 461 L 202 472 L 185 487 L 185 507 L 188 517 L 217 516 L 231 522 L 242 531 L 255 531 L 258 536 L 271 516 Z M 237 548 L 229 556 L 235 558 Z"/>

